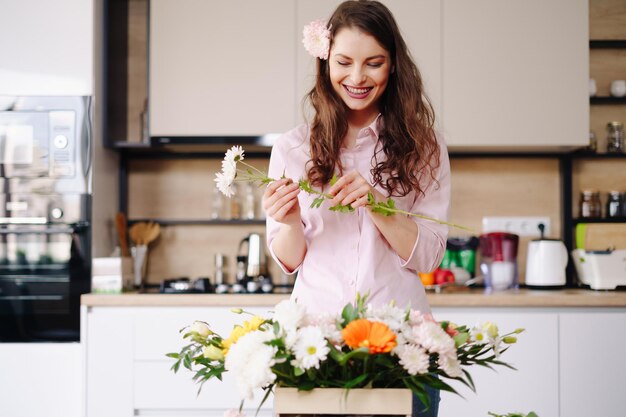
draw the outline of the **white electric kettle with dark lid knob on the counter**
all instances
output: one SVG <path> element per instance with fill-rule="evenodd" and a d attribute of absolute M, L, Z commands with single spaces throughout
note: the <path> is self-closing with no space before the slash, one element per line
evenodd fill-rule
<path fill-rule="evenodd" d="M 542 237 L 528 244 L 526 259 L 526 285 L 528 287 L 560 288 L 566 283 L 565 267 L 568 253 L 558 239 Z"/>

